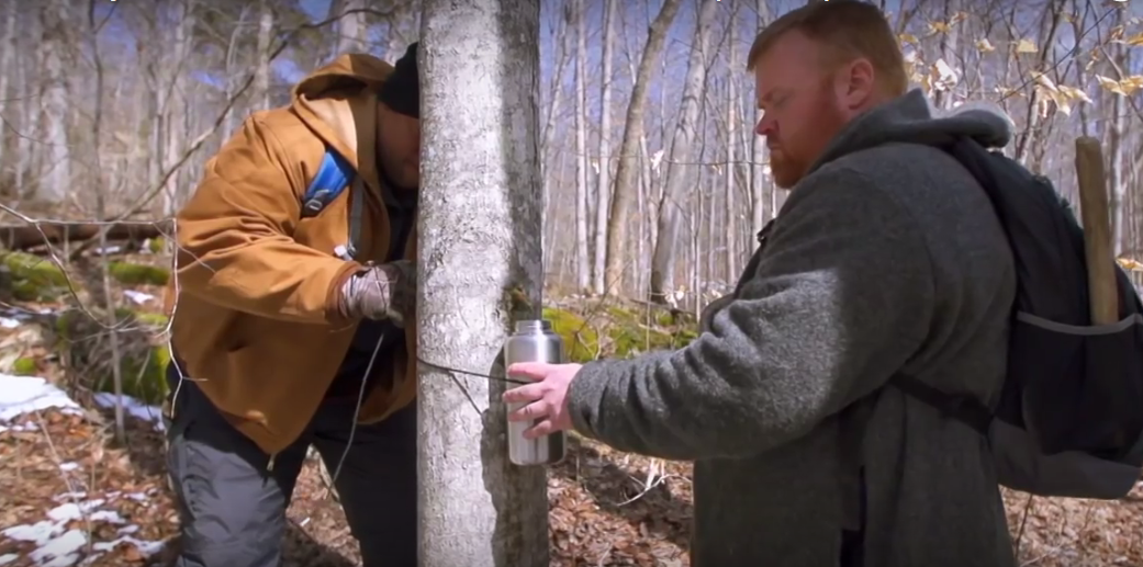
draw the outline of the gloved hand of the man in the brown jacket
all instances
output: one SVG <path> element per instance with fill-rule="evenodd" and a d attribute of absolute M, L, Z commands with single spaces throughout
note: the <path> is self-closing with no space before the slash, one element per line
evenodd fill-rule
<path fill-rule="evenodd" d="M 342 286 L 338 302 L 342 315 L 349 318 L 387 318 L 394 325 L 405 327 L 405 317 L 411 316 L 416 302 L 416 269 L 411 260 L 397 260 L 350 276 Z"/>

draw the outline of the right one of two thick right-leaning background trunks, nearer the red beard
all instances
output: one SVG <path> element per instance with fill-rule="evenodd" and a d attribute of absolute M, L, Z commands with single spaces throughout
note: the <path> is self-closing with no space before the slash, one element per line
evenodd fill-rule
<path fill-rule="evenodd" d="M 674 291 L 674 249 L 681 228 L 679 212 L 682 188 L 688 177 L 687 170 L 690 168 L 679 162 L 690 161 L 694 143 L 698 136 L 698 114 L 702 111 L 703 95 L 706 91 L 706 43 L 710 41 L 718 6 L 718 0 L 702 0 L 698 19 L 695 23 L 694 41 L 690 43 L 687 78 L 682 88 L 682 104 L 671 140 L 671 153 L 666 164 L 666 183 L 663 189 L 663 201 L 658 209 L 658 241 L 655 242 L 650 266 L 650 300 L 655 302 L 665 302 L 668 294 Z"/>

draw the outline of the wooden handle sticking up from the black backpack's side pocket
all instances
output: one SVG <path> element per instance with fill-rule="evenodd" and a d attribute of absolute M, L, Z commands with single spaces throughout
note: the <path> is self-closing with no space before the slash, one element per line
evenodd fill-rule
<path fill-rule="evenodd" d="M 1109 325 L 1119 321 L 1119 289 L 1111 245 L 1111 222 L 1108 220 L 1108 178 L 1103 169 L 1103 151 L 1097 139 L 1089 136 L 1076 138 L 1076 176 L 1079 181 L 1080 216 L 1084 220 L 1092 324 Z"/>

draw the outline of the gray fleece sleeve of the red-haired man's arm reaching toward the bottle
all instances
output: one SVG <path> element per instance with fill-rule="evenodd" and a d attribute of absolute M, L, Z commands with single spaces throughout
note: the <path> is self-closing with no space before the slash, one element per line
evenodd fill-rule
<path fill-rule="evenodd" d="M 887 194 L 845 169 L 806 180 L 758 272 L 711 332 L 673 353 L 585 365 L 575 429 L 678 460 L 758 454 L 882 386 L 933 309 L 928 252 Z"/>

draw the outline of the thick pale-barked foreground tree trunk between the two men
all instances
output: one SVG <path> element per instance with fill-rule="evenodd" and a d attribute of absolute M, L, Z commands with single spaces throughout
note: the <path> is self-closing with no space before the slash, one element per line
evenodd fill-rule
<path fill-rule="evenodd" d="M 547 566 L 545 469 L 507 461 L 504 382 L 439 367 L 503 376 L 511 319 L 539 317 L 539 2 L 423 9 L 419 565 Z"/>

